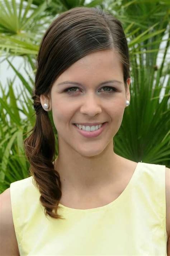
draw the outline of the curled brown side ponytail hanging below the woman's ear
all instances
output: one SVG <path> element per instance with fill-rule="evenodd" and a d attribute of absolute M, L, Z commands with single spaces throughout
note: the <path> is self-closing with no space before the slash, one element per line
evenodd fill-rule
<path fill-rule="evenodd" d="M 41 193 L 39 200 L 45 207 L 45 215 L 63 219 L 57 214 L 58 203 L 62 195 L 60 175 L 54 170 L 52 163 L 53 156 L 55 156 L 55 136 L 48 112 L 43 110 L 40 97 L 35 94 L 35 90 L 32 99 L 36 111 L 36 123 L 31 130 L 32 134 L 24 140 L 25 154 L 30 163 L 29 171 L 34 178 L 34 185 Z"/>

